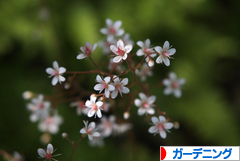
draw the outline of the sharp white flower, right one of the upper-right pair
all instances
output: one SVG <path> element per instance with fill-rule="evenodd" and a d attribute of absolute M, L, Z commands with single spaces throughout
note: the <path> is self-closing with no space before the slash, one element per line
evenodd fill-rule
<path fill-rule="evenodd" d="M 164 62 L 164 64 L 166 66 L 170 65 L 170 60 L 169 58 L 171 58 L 171 55 L 174 55 L 176 52 L 176 49 L 172 48 L 170 49 L 170 45 L 168 41 L 164 42 L 163 48 L 160 46 L 155 47 L 156 52 L 159 54 L 159 56 L 156 59 L 156 63 L 162 63 Z"/>

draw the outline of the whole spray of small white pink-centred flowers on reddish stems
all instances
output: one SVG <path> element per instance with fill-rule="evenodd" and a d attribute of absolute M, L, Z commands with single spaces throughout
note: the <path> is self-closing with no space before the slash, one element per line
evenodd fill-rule
<path fill-rule="evenodd" d="M 159 133 L 163 139 L 167 136 L 166 132 L 170 132 L 169 130 L 173 127 L 179 127 L 174 126 L 174 124 L 179 124 L 173 123 L 173 120 L 165 112 L 161 111 L 156 97 L 159 93 L 151 94 L 150 86 L 152 84 L 147 84 L 146 82 L 147 77 L 154 75 L 154 70 L 152 69 L 155 62 L 170 66 L 170 59 L 176 53 L 176 49 L 170 46 L 169 41 L 165 41 L 161 47 L 152 46 L 150 39 L 146 39 L 145 41 L 137 41 L 137 49 L 134 53 L 133 41 L 130 40 L 130 35 L 125 33 L 121 26 L 122 21 L 120 20 L 113 22 L 111 19 L 106 19 L 106 27 L 100 29 L 100 32 L 106 36 L 105 40 L 93 45 L 90 42 L 86 42 L 84 46 L 80 47 L 81 52 L 79 52 L 76 58 L 80 61 L 91 61 L 95 70 L 67 71 L 66 68 L 59 67 L 57 61 L 53 62 L 53 68 L 49 67 L 46 69 L 46 72 L 50 74 L 49 77 L 53 77 L 53 86 L 58 82 L 60 84 L 65 82 L 66 76 L 63 76 L 63 74 L 70 75 L 65 87 L 76 91 L 77 97 L 76 93 L 71 97 L 69 92 L 64 102 L 69 100 L 70 107 L 76 107 L 78 115 L 84 114 L 86 116 L 83 117 L 93 120 L 90 123 L 83 121 L 84 127 L 79 131 L 82 137 L 76 144 L 70 141 L 67 133 L 63 133 L 63 138 L 69 140 L 74 149 L 85 136 L 88 136 L 90 145 L 103 146 L 104 138 L 130 130 L 134 126 L 128 120 L 131 112 L 136 112 L 141 116 L 139 118 L 151 115 L 152 126 L 148 132 L 151 134 Z M 98 63 L 95 62 L 95 54 L 93 53 L 97 52 L 96 48 L 98 46 L 103 48 L 105 57 L 107 56 L 106 54 L 113 56 L 113 58 L 107 59 L 105 67 L 108 67 L 108 71 L 106 69 L 102 70 Z M 136 63 L 136 60 L 139 59 L 137 58 L 138 56 L 143 56 L 142 61 Z M 76 76 L 88 74 L 95 78 L 96 84 L 90 90 L 87 87 L 82 89 L 76 88 L 73 84 Z M 81 80 L 77 84 L 81 84 Z M 177 79 L 176 74 L 170 72 L 169 78 L 158 80 L 154 87 L 166 86 L 163 89 L 164 95 L 173 94 L 175 97 L 180 98 L 184 84 L 185 79 Z M 138 88 L 132 88 L 133 86 Z M 32 93 L 24 93 L 24 98 L 32 97 Z M 51 108 L 51 103 L 44 101 L 44 96 L 41 94 L 37 98 L 32 98 L 31 103 L 27 107 L 31 111 L 30 120 L 40 122 L 38 126 L 40 131 L 55 134 L 59 131 L 58 127 L 63 122 L 62 117 L 57 113 L 57 107 L 61 103 L 62 97 L 61 99 L 51 97 L 50 100 L 54 102 L 56 107 Z M 123 113 L 124 119 L 117 117 L 119 116 L 117 115 L 119 111 Z M 146 118 L 149 119 L 149 117 Z M 53 152 L 52 144 L 48 144 L 47 150 L 38 149 L 40 157 L 46 160 L 55 160 L 52 158 Z"/>

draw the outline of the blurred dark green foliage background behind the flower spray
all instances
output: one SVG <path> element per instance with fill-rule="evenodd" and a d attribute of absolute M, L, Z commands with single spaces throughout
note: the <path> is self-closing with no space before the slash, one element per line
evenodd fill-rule
<path fill-rule="evenodd" d="M 187 80 L 181 99 L 164 96 L 163 87 L 150 91 L 180 129 L 172 129 L 165 140 L 153 136 L 133 107 L 129 133 L 107 138 L 104 148 L 90 147 L 84 139 L 73 160 L 159 160 L 160 145 L 240 145 L 239 7 L 236 0 L 1 0 L 0 149 L 39 160 L 37 148 L 46 145 L 39 141 L 37 123 L 29 121 L 22 93 L 58 91 L 45 73 L 54 60 L 70 71 L 94 69 L 89 60 L 76 56 L 86 41 L 104 39 L 99 30 L 106 18 L 122 20 L 135 52 L 136 42 L 147 38 L 154 46 L 168 40 L 177 49 L 171 65 L 156 64 L 148 80 L 156 82 L 170 71 Z M 101 59 L 101 52 L 97 48 L 93 57 Z M 85 84 L 90 89 L 95 76 Z M 68 132 L 77 142 L 86 117 L 77 116 L 69 104 L 61 104 L 59 114 L 64 123 L 51 143 L 62 161 L 68 160 L 72 147 L 61 133 Z"/>

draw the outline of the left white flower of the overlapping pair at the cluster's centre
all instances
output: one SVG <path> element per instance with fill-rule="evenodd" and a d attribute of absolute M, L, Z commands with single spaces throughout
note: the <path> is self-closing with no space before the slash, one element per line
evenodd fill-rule
<path fill-rule="evenodd" d="M 105 96 L 109 98 L 110 92 L 115 89 L 115 87 L 110 84 L 110 81 L 111 81 L 110 77 L 105 77 L 104 80 L 102 80 L 102 78 L 99 75 L 97 75 L 96 82 L 98 82 L 99 84 L 96 84 L 94 86 L 94 90 L 99 91 L 99 93 L 101 93 L 102 90 L 105 89 Z"/>

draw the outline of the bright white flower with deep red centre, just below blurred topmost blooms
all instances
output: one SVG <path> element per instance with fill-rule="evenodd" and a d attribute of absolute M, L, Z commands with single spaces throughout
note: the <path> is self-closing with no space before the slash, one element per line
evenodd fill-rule
<path fill-rule="evenodd" d="M 128 53 L 132 50 L 132 45 L 124 46 L 124 43 L 121 39 L 117 42 L 117 47 L 114 45 L 110 46 L 111 51 L 117 55 L 113 58 L 114 63 L 118 63 L 122 60 L 126 60 L 128 57 Z"/>

